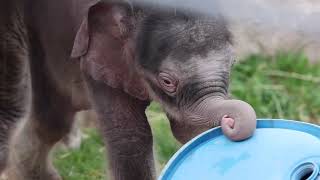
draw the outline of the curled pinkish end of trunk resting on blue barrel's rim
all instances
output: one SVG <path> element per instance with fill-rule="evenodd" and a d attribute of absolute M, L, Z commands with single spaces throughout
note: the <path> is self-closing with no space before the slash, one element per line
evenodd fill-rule
<path fill-rule="evenodd" d="M 256 113 L 251 105 L 240 100 L 212 100 L 209 102 L 209 118 L 220 122 L 222 132 L 233 141 L 252 136 L 256 129 Z"/>

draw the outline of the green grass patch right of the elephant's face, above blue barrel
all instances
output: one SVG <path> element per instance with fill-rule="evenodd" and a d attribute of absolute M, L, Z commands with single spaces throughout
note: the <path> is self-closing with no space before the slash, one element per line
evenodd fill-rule
<path fill-rule="evenodd" d="M 251 56 L 234 67 L 230 88 L 260 118 L 320 120 L 320 64 L 302 54 Z"/>

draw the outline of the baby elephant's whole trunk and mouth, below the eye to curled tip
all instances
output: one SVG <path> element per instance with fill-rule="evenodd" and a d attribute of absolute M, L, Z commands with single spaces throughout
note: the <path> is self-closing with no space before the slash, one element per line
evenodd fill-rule
<path fill-rule="evenodd" d="M 233 141 L 245 140 L 256 129 L 256 113 L 240 100 L 207 99 L 186 111 L 182 119 L 167 113 L 173 135 L 186 143 L 198 134 L 221 125 L 222 132 Z"/>

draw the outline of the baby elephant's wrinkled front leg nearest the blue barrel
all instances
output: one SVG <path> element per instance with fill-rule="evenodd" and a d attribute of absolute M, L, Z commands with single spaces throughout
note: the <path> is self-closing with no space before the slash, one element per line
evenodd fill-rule
<path fill-rule="evenodd" d="M 154 179 L 153 140 L 145 115 L 149 102 L 89 77 L 87 84 L 107 147 L 111 179 Z"/>

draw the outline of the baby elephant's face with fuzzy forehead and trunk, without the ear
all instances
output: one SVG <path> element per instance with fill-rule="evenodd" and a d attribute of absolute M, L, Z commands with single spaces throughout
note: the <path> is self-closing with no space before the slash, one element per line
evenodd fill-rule
<path fill-rule="evenodd" d="M 255 111 L 246 102 L 228 98 L 235 55 L 223 19 L 156 13 L 143 23 L 137 39 L 140 72 L 152 99 L 163 105 L 177 139 L 186 142 L 218 125 L 232 140 L 250 137 Z"/>

